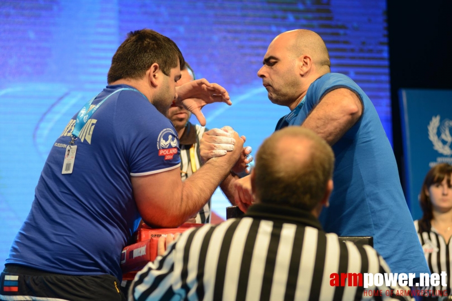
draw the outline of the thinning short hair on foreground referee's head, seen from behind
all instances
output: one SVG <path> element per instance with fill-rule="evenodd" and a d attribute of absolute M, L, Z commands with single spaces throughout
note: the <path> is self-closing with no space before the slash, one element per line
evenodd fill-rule
<path fill-rule="evenodd" d="M 306 147 L 291 153 L 291 145 L 281 145 L 285 137 L 306 141 Z M 325 196 L 333 169 L 334 153 L 324 139 L 307 128 L 286 127 L 259 147 L 254 168 L 256 197 L 261 203 L 311 211 Z"/>

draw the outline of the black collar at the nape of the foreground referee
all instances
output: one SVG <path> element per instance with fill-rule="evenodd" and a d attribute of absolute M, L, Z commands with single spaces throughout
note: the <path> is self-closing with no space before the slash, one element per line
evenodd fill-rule
<path fill-rule="evenodd" d="M 294 207 L 254 204 L 248 208 L 245 217 L 300 224 L 322 230 L 319 220 L 311 212 Z"/>

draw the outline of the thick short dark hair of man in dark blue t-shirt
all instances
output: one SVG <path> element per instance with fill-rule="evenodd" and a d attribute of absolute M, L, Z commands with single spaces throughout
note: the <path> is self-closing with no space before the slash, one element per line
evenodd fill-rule
<path fill-rule="evenodd" d="M 171 39 L 150 29 L 133 31 L 113 56 L 107 80 L 140 79 L 154 63 L 169 76 L 177 62 L 181 68 L 185 66 L 182 52 Z"/>

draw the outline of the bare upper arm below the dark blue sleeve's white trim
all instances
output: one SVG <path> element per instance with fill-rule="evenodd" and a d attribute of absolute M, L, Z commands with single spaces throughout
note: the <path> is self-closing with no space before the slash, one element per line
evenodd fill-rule
<path fill-rule="evenodd" d="M 182 200 L 179 168 L 147 176 L 132 177 L 132 190 L 143 221 L 156 227 L 174 226 L 174 215 Z"/>

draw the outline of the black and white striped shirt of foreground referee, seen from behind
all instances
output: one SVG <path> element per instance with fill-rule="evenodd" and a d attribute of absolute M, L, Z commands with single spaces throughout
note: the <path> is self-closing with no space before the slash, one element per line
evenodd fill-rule
<path fill-rule="evenodd" d="M 137 274 L 129 299 L 373 299 L 364 287 L 331 286 L 331 273 L 341 272 L 389 268 L 375 249 L 339 242 L 307 212 L 256 204 L 241 219 L 185 232 Z M 376 299 L 409 298 L 383 293 Z"/>

